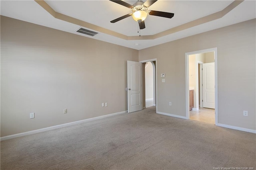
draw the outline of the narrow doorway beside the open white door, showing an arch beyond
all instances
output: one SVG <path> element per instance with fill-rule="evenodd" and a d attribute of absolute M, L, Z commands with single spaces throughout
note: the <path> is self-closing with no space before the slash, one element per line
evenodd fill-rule
<path fill-rule="evenodd" d="M 156 59 L 140 62 L 142 63 L 143 108 L 156 106 L 157 112 Z"/>

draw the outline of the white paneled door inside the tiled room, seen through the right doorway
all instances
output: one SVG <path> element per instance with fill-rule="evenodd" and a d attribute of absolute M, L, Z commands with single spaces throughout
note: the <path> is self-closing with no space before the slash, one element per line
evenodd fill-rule
<path fill-rule="evenodd" d="M 215 109 L 214 63 L 203 64 L 203 107 Z"/>

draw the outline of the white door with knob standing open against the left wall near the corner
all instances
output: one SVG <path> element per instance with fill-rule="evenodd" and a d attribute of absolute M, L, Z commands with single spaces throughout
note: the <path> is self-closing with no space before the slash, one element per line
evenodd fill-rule
<path fill-rule="evenodd" d="M 142 110 L 142 63 L 127 61 L 128 113 Z"/>

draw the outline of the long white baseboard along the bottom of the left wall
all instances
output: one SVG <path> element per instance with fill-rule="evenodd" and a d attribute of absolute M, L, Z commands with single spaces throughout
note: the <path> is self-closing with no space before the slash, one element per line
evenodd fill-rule
<path fill-rule="evenodd" d="M 103 115 L 103 116 L 99 116 L 99 117 L 93 117 L 93 118 L 84 119 L 84 120 L 81 120 L 81 121 L 65 123 L 65 124 L 56 125 L 56 126 L 52 126 L 52 127 L 40 128 L 40 129 L 37 129 L 37 130 L 31 130 L 31 131 L 28 131 L 28 132 L 22 132 L 22 133 L 18 133 L 18 134 L 3 136 L 3 137 L 0 138 L 0 141 L 7 140 L 7 139 L 12 139 L 12 138 L 17 138 L 17 137 L 21 137 L 21 136 L 27 136 L 27 135 L 30 135 L 30 134 L 36 134 L 36 133 L 39 133 L 39 132 L 45 132 L 45 131 L 53 130 L 53 129 L 56 129 L 56 128 L 67 127 L 67 126 L 70 126 L 70 125 L 76 125 L 78 123 L 83 123 L 83 122 L 96 120 L 96 119 L 102 119 L 102 118 L 105 118 L 105 117 L 110 117 L 110 116 L 119 115 L 119 114 L 123 114 L 123 113 L 127 113 L 127 111 L 112 113 L 112 114 L 109 114 L 109 115 Z"/>

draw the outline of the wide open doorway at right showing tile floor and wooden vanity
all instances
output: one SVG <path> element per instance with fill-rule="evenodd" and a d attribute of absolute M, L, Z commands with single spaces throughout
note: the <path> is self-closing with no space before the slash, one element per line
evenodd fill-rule
<path fill-rule="evenodd" d="M 218 125 L 217 49 L 186 53 L 186 118 Z"/>

